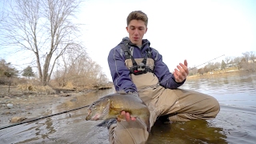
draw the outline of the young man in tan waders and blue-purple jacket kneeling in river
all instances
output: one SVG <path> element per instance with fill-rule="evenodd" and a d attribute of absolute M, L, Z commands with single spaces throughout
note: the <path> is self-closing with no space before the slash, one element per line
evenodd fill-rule
<path fill-rule="evenodd" d="M 142 39 L 147 31 L 148 18 L 142 11 L 133 11 L 127 17 L 129 38 L 110 50 L 108 62 L 114 87 L 117 91 L 134 93 L 150 110 L 150 126 L 159 116 L 167 115 L 170 121 L 212 119 L 219 112 L 218 101 L 206 94 L 181 90 L 179 86 L 189 74 L 186 60 L 179 63 L 171 74 L 162 55 Z M 149 132 L 139 118 L 131 118 L 122 111 L 126 121 L 110 121 L 110 143 L 145 143 Z"/>

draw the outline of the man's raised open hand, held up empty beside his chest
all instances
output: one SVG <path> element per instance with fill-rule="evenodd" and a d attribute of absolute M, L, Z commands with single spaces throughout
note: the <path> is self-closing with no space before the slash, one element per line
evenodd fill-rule
<path fill-rule="evenodd" d="M 178 69 L 174 69 L 175 82 L 183 82 L 186 79 L 186 76 L 189 74 L 186 60 L 184 60 L 184 64 L 179 63 L 177 68 Z"/>

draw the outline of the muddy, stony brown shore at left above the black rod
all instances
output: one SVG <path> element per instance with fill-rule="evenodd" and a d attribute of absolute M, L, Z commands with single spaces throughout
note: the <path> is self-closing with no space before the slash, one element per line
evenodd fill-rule
<path fill-rule="evenodd" d="M 90 90 L 87 90 L 89 92 Z M 86 93 L 86 92 L 85 92 Z M 78 93 L 58 91 L 56 94 L 38 94 L 0 85 L 0 127 L 24 122 L 51 114 L 54 107 L 66 102 Z"/>

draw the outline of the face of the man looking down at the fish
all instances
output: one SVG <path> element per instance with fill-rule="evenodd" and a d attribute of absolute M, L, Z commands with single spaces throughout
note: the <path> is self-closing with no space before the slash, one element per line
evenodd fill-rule
<path fill-rule="evenodd" d="M 142 45 L 142 38 L 146 34 L 146 25 L 142 20 L 131 20 L 130 24 L 126 27 L 127 32 L 129 33 L 130 41 L 135 45 Z"/>

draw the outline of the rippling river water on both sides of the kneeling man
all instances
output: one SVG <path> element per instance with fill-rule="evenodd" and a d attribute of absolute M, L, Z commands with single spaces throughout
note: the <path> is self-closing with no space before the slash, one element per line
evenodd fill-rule
<path fill-rule="evenodd" d="M 196 90 L 218 99 L 221 110 L 213 120 L 157 121 L 147 143 L 248 143 L 256 142 L 256 73 L 191 78 L 182 89 Z M 82 94 L 52 110 L 52 114 L 86 106 L 114 93 L 99 90 Z M 108 143 L 106 127 L 86 121 L 86 109 L 44 118 L 0 130 L 0 143 Z"/>

